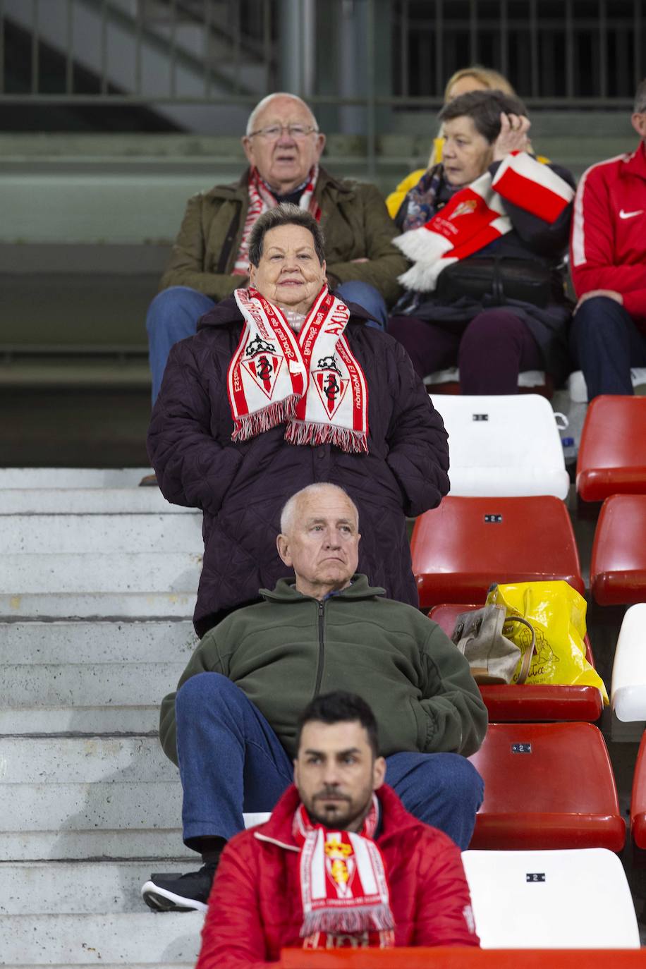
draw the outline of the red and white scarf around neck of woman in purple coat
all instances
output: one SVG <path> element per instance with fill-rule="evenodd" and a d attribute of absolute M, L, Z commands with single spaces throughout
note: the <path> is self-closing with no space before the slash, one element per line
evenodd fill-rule
<path fill-rule="evenodd" d="M 323 286 L 300 332 L 258 290 L 235 290 L 245 320 L 228 373 L 231 440 L 287 423 L 290 444 L 368 451 L 368 388 L 344 334 L 345 303 Z"/>

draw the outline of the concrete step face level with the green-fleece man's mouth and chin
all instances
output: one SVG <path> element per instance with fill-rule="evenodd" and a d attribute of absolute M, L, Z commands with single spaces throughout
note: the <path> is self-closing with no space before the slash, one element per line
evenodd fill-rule
<path fill-rule="evenodd" d="M 200 572 L 190 552 L 15 553 L 0 558 L 0 593 L 191 593 Z"/>

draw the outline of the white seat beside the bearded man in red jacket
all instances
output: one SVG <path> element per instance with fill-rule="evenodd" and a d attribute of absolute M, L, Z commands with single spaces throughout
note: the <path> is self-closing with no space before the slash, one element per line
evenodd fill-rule
<path fill-rule="evenodd" d="M 639 948 L 631 890 L 610 851 L 467 851 L 462 861 L 483 949 Z"/>

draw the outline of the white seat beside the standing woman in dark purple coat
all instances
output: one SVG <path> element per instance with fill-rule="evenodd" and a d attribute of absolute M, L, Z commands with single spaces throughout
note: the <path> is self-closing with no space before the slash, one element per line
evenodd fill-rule
<path fill-rule="evenodd" d="M 518 396 L 442 395 L 450 447 L 450 494 L 566 498 L 569 476 L 549 402 Z"/>

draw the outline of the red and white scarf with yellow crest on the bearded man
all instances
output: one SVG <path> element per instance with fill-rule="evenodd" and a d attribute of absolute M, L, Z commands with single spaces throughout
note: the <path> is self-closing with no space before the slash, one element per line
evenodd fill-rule
<path fill-rule="evenodd" d="M 358 833 L 313 825 L 303 804 L 296 809 L 292 831 L 300 846 L 304 949 L 394 946 L 385 864 L 373 841 L 378 821 L 374 794 Z"/>

